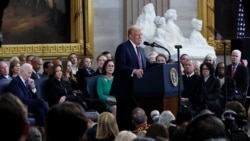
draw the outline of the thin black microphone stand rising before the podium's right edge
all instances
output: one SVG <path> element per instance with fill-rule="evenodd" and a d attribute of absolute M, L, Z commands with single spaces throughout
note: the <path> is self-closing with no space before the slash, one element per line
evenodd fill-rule
<path fill-rule="evenodd" d="M 180 78 L 182 77 L 181 72 L 180 72 L 180 49 L 182 48 L 181 45 L 175 45 L 175 48 L 177 49 L 177 62 L 178 62 L 178 66 L 177 66 L 177 70 L 178 70 L 178 103 L 179 103 L 179 110 L 181 108 L 181 81 Z"/>

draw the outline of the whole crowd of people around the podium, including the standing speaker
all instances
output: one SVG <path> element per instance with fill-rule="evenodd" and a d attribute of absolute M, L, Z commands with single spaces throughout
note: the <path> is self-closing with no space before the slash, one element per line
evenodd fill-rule
<path fill-rule="evenodd" d="M 0 116 L 0 135 L 10 137 L 12 133 L 13 140 L 22 141 L 32 137 L 48 141 L 205 141 L 233 140 L 234 133 L 242 131 L 248 138 L 249 70 L 239 50 L 232 51 L 230 65 L 216 63 L 209 54 L 203 62 L 182 54 L 179 65 L 184 89 L 176 117 L 174 111 L 156 109 L 149 119 L 135 97 L 133 78 L 142 78 L 146 69 L 156 65 L 178 62 L 155 51 L 146 55 L 141 43 L 142 29 L 131 26 L 128 40 L 118 45 L 114 56 L 108 51 L 98 55 L 96 70 L 90 57 L 80 59 L 75 53 L 45 62 L 34 55 L 13 57 L 10 65 L 0 61 L 0 81 L 10 80 L 6 94 L 0 96 L 4 115 Z M 94 76 L 98 76 L 97 97 L 91 99 L 86 79 Z M 42 79 L 46 86 L 40 96 L 36 84 Z M 34 115 L 37 130 L 27 122 L 28 113 Z"/>

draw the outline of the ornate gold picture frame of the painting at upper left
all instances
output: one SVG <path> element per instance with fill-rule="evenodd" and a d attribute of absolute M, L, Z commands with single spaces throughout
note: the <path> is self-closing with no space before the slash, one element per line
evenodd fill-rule
<path fill-rule="evenodd" d="M 82 0 L 71 0 L 70 28 L 71 43 L 59 44 L 18 44 L 3 45 L 0 48 L 1 59 L 10 59 L 20 54 L 33 54 L 43 59 L 53 59 L 57 57 L 66 58 L 68 54 L 74 52 L 78 56 L 83 56 L 83 16 Z M 86 44 L 87 55 L 94 56 L 94 28 L 93 28 L 93 1 L 85 0 L 86 21 Z"/>

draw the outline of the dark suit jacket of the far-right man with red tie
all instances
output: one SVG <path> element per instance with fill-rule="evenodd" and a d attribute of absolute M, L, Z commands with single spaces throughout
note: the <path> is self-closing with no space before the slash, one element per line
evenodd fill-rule
<path fill-rule="evenodd" d="M 231 76 L 232 72 L 232 65 L 227 66 L 227 75 Z M 247 88 L 248 88 L 248 83 L 249 83 L 249 72 L 247 67 L 238 65 L 236 68 L 234 78 L 233 80 L 235 81 L 235 86 L 236 90 L 238 91 L 239 94 L 241 95 L 246 95 Z"/>

